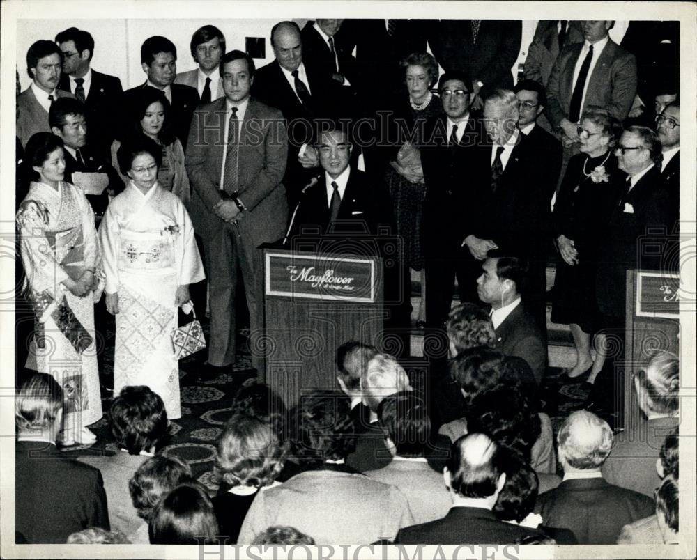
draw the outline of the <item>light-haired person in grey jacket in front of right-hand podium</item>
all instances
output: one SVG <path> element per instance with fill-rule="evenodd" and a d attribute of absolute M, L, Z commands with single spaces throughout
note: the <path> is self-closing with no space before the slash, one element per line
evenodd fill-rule
<path fill-rule="evenodd" d="M 653 497 L 661 482 L 656 469 L 666 433 L 680 423 L 680 362 L 673 352 L 659 350 L 648 366 L 634 374 L 641 422 L 636 436 L 618 436 L 603 465 L 608 482 Z M 643 414 L 641 414 L 643 413 Z"/>

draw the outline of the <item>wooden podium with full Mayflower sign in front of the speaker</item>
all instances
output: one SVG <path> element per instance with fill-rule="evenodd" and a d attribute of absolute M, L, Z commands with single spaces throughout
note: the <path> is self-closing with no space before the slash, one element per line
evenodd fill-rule
<path fill-rule="evenodd" d="M 287 406 L 313 389 L 336 389 L 336 351 L 349 340 L 379 345 L 382 262 L 374 256 L 263 249 L 263 331 L 250 350 Z"/>

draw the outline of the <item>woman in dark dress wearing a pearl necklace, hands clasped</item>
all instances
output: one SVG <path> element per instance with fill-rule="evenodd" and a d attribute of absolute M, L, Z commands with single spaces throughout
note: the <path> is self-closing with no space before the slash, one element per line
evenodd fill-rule
<path fill-rule="evenodd" d="M 438 63 L 428 53 L 413 53 L 402 59 L 404 83 L 408 93 L 394 107 L 390 120 L 390 141 L 396 141 L 388 152 L 390 168 L 385 182 L 390 187 L 397 221 L 397 235 L 404 243 L 404 265 L 421 272 L 421 303 L 417 325 L 425 327 L 426 279 L 420 246 L 421 210 L 426 185 L 421 169 L 418 146 L 423 141 L 424 123 L 443 112 L 438 95 L 431 87 L 438 79 Z"/>

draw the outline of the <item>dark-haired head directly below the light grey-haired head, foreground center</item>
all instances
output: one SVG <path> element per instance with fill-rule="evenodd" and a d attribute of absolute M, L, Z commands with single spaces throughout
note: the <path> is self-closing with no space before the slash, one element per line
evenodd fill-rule
<path fill-rule="evenodd" d="M 387 446 L 400 457 L 422 457 L 428 451 L 431 419 L 424 400 L 414 391 L 400 391 L 383 398 L 378 421 Z"/>

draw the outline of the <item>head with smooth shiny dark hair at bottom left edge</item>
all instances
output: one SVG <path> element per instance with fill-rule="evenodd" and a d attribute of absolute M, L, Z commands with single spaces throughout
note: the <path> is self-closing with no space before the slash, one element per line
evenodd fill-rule
<path fill-rule="evenodd" d="M 155 506 L 148 522 L 151 545 L 212 544 L 218 534 L 213 503 L 198 483 L 182 484 Z"/>

